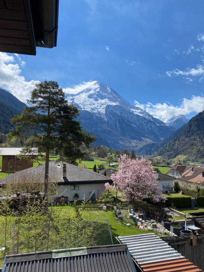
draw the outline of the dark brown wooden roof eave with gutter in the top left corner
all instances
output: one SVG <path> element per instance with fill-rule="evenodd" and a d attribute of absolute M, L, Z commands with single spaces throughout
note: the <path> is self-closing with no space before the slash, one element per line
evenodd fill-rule
<path fill-rule="evenodd" d="M 0 1 L 0 51 L 36 55 L 57 46 L 59 0 Z"/>

